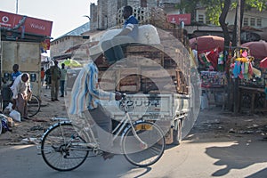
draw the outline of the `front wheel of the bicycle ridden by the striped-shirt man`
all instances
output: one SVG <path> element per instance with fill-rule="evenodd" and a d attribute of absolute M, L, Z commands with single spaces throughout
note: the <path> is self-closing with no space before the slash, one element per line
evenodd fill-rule
<path fill-rule="evenodd" d="M 125 158 L 134 166 L 150 166 L 162 157 L 165 137 L 158 125 L 147 121 L 134 124 L 134 129 L 142 142 L 134 136 L 132 127 L 125 132 L 122 149 Z"/>

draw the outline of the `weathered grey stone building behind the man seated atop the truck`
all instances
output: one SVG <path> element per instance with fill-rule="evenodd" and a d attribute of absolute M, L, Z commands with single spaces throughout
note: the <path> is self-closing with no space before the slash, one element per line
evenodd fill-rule
<path fill-rule="evenodd" d="M 94 33 L 117 26 L 117 12 L 125 5 L 174 9 L 174 4 L 179 2 L 180 0 L 98 0 L 97 4 L 90 4 L 90 31 L 77 35 L 68 33 L 53 40 L 50 55 L 54 60 L 70 58 L 72 54 L 66 51 L 72 46 L 85 43 L 88 39 L 84 36 L 92 37 Z M 94 41 L 91 37 L 90 41 Z"/>

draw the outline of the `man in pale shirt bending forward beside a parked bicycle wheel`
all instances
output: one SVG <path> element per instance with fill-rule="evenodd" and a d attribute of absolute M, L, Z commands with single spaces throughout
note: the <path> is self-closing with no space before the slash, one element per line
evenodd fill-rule
<path fill-rule="evenodd" d="M 27 97 L 31 93 L 28 73 L 23 73 L 16 77 L 12 87 L 12 109 L 17 109 L 20 116 L 24 119 L 28 118 Z"/>

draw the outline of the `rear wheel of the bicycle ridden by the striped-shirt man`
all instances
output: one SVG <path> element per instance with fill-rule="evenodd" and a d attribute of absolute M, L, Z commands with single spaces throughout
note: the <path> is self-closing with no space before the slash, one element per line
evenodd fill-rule
<path fill-rule="evenodd" d="M 81 166 L 89 153 L 87 147 L 78 145 L 85 143 L 85 137 L 81 135 L 77 134 L 75 126 L 70 123 L 53 126 L 42 140 L 44 162 L 58 171 L 70 171 Z"/>

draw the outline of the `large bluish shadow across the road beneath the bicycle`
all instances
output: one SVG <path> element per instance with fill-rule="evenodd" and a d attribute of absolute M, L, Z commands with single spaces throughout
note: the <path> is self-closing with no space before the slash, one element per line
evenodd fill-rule
<path fill-rule="evenodd" d="M 134 172 L 136 178 L 150 173 L 151 167 L 139 168 L 128 163 L 123 155 L 117 155 L 106 161 L 101 157 L 87 158 L 82 166 L 69 172 L 53 170 L 44 163 L 41 155 L 36 154 L 35 146 L 15 146 L 0 150 L 1 177 L 20 178 L 115 178 L 127 177 Z M 15 171 L 14 171 L 15 170 Z M 19 173 L 19 174 L 18 174 Z"/>

